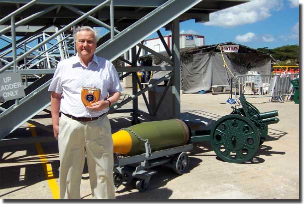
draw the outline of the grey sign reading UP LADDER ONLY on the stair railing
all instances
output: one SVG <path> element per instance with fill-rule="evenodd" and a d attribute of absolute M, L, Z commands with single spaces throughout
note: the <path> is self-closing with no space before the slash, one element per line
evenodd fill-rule
<path fill-rule="evenodd" d="M 0 74 L 0 101 L 8 101 L 25 96 L 20 73 Z"/>

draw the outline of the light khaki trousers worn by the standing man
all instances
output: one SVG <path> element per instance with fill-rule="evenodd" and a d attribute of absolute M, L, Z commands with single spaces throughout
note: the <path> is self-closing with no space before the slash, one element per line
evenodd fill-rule
<path fill-rule="evenodd" d="M 61 199 L 80 199 L 85 153 L 94 199 L 115 199 L 113 140 L 107 115 L 80 122 L 61 115 L 59 120 L 59 187 Z"/>

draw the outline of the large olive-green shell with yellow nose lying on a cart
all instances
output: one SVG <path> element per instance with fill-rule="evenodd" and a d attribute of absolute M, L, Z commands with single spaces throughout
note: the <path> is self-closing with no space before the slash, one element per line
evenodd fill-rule
<path fill-rule="evenodd" d="M 187 125 L 178 119 L 144 122 L 129 129 L 148 139 L 152 152 L 185 145 L 190 139 Z M 112 138 L 115 153 L 134 156 L 146 152 L 145 142 L 130 130 L 120 130 Z"/>

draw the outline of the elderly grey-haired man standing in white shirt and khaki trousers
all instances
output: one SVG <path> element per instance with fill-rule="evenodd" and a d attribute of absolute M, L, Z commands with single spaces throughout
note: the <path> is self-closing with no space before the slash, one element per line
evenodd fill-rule
<path fill-rule="evenodd" d="M 115 199 L 113 140 L 106 113 L 118 101 L 122 87 L 114 65 L 94 54 L 97 33 L 93 28 L 78 27 L 74 40 L 77 55 L 58 63 L 49 87 L 59 147 L 60 198 L 80 199 L 86 155 L 93 198 Z M 83 87 L 100 89 L 97 102 L 84 105 Z"/>

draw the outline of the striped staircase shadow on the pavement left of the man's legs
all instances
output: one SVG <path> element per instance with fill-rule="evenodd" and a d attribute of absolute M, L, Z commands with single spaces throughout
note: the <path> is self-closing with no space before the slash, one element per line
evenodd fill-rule
<path fill-rule="evenodd" d="M 48 154 L 39 157 L 37 156 L 34 144 L 1 148 L 0 164 L 2 165 L 0 168 L 0 190 L 7 189 L 8 191 L 2 191 L 5 193 L 1 193 L 0 197 L 47 179 L 58 178 L 58 149 L 54 147 L 49 149 L 53 151 L 47 152 Z M 16 152 L 20 151 L 25 152 L 25 154 L 18 156 Z M 40 159 L 47 159 L 48 162 L 41 164 Z M 5 164 L 7 166 L 5 166 Z M 53 175 L 50 175 L 49 173 L 45 174 L 46 165 L 50 165 L 53 170 Z M 46 178 L 45 175 L 49 175 L 48 178 Z M 9 190 L 10 188 L 15 187 L 21 188 Z"/>

